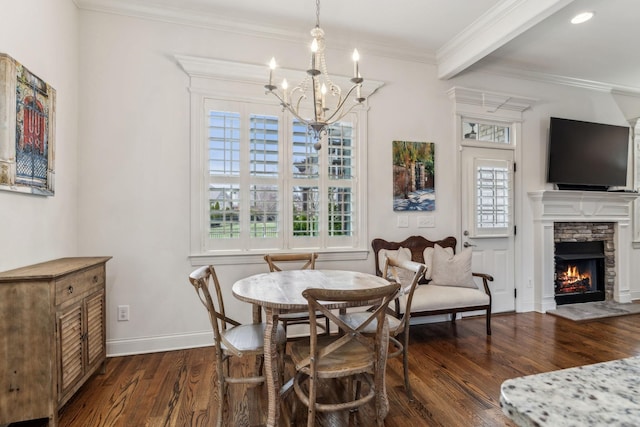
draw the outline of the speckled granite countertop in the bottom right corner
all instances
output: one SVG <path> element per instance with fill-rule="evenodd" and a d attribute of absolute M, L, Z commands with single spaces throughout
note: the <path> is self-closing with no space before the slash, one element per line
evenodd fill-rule
<path fill-rule="evenodd" d="M 639 426 L 640 357 L 507 380 L 500 406 L 519 426 Z"/>

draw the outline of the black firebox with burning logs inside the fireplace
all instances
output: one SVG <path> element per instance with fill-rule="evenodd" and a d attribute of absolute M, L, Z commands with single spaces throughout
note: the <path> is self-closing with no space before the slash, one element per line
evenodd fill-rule
<path fill-rule="evenodd" d="M 556 304 L 604 301 L 604 242 L 556 242 Z"/>

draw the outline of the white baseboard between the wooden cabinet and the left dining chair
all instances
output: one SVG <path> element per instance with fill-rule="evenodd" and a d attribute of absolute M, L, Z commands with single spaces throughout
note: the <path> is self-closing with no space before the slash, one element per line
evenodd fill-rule
<path fill-rule="evenodd" d="M 213 332 L 107 340 L 107 357 L 157 353 L 213 345 Z"/>

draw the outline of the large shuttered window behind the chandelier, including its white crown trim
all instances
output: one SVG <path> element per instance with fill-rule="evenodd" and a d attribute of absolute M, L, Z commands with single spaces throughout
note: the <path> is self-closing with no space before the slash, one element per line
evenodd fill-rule
<path fill-rule="evenodd" d="M 297 250 L 365 260 L 366 109 L 332 126 L 316 151 L 306 127 L 265 95 L 266 67 L 175 59 L 189 77 L 191 263 L 263 263 L 267 251 Z M 383 84 L 366 80 L 363 93 Z"/>

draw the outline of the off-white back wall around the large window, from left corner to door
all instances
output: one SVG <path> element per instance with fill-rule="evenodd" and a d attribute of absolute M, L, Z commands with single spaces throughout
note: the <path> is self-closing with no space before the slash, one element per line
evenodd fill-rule
<path fill-rule="evenodd" d="M 208 334 L 210 326 L 187 281 L 192 270 L 187 258 L 189 80 L 173 55 L 266 64 L 272 54 L 291 49 L 299 50 L 302 58 L 304 43 L 83 12 L 80 49 L 80 134 L 86 142 L 79 148 L 81 250 L 114 257 L 107 281 L 109 350 L 135 352 L 202 342 L 197 333 Z M 348 74 L 349 54 L 344 57 L 344 64 L 337 64 L 344 69 L 337 72 Z M 298 68 L 300 62 L 282 66 Z M 404 238 L 425 231 L 415 228 L 413 217 L 409 229 L 394 232 L 388 226 L 396 223 L 391 200 L 394 139 L 438 144 L 438 228 L 426 231 L 433 238 L 454 233 L 450 209 L 456 201 L 455 176 L 446 165 L 454 163 L 455 150 L 447 148 L 451 126 L 442 126 L 450 117 L 450 84 L 438 81 L 434 67 L 424 64 L 363 58 L 362 71 L 387 83 L 371 99 L 369 116 L 369 170 L 375 171 L 370 173 L 369 237 Z M 373 259 L 319 265 L 373 271 Z M 240 277 L 264 271 L 263 263 L 218 266 L 228 288 Z M 234 316 L 249 320 L 249 307 L 229 292 L 227 297 Z M 121 304 L 131 307 L 129 322 L 115 320 Z M 185 338 L 185 332 L 195 336 Z"/>

